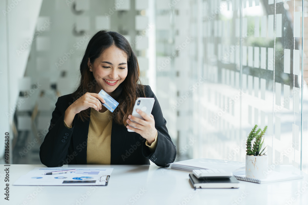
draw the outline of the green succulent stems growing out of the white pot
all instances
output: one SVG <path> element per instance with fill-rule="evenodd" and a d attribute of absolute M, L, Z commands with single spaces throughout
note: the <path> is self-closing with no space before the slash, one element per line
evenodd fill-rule
<path fill-rule="evenodd" d="M 264 134 L 266 132 L 267 126 L 265 126 L 263 130 L 261 130 L 260 128 L 257 129 L 257 127 L 258 126 L 255 125 L 252 128 L 251 132 L 249 133 L 249 135 L 247 137 L 247 142 L 246 142 L 246 145 L 247 145 L 246 153 L 247 153 L 247 155 L 260 156 L 260 155 L 265 153 L 264 152 L 265 148 L 262 149 L 262 151 L 261 151 L 261 148 L 262 148 L 262 145 L 263 145 L 263 142 L 264 142 Z M 253 140 L 254 140 L 254 142 L 253 142 Z M 252 144 L 252 142 L 253 142 L 253 144 Z"/>

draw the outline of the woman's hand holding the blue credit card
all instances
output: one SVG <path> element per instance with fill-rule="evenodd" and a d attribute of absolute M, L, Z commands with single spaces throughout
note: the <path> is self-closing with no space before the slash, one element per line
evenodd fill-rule
<path fill-rule="evenodd" d="M 99 102 L 105 103 L 106 101 L 97 93 L 85 93 L 83 96 L 79 97 L 73 104 L 69 106 L 71 112 L 77 114 L 87 108 L 94 108 L 99 111 L 102 109 L 102 104 Z"/>

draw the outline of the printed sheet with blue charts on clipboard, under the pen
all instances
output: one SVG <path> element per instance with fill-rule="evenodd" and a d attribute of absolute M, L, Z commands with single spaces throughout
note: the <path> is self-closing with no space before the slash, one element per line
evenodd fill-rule
<path fill-rule="evenodd" d="M 76 169 L 75 172 L 44 175 L 47 172 Z M 13 185 L 26 186 L 107 186 L 113 168 L 40 168 L 21 176 Z"/>

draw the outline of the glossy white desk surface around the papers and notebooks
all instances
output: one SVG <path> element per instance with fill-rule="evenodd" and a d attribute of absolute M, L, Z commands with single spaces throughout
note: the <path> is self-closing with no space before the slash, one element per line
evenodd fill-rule
<path fill-rule="evenodd" d="M 106 187 L 13 186 L 20 176 L 34 167 L 45 166 L 10 165 L 10 201 L 4 200 L 4 165 L 1 167 L 0 204 L 308 204 L 308 175 L 290 166 L 275 170 L 302 174 L 304 179 L 269 184 L 240 181 L 238 189 L 195 191 L 188 182 L 187 172 L 159 168 L 156 165 L 74 166 L 114 168 Z"/>

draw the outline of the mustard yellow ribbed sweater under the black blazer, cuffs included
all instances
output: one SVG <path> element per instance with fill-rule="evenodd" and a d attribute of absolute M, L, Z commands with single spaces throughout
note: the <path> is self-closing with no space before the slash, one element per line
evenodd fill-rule
<path fill-rule="evenodd" d="M 67 126 L 64 121 L 64 125 Z M 111 160 L 111 128 L 112 128 L 112 113 L 107 110 L 106 112 L 98 112 L 91 108 L 90 124 L 88 130 L 87 141 L 87 164 L 110 164 Z M 157 145 L 157 131 L 155 141 L 145 144 L 151 152 L 155 151 Z"/>

